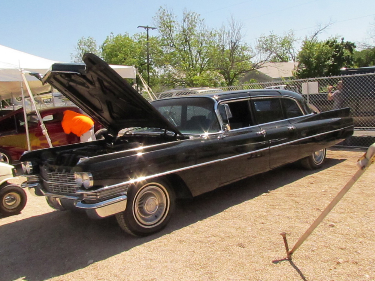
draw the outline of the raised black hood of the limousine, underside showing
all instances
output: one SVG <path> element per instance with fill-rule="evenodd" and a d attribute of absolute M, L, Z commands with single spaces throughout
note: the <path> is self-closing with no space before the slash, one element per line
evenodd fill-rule
<path fill-rule="evenodd" d="M 124 128 L 155 127 L 182 135 L 125 79 L 94 54 L 83 63 L 55 63 L 42 78 L 114 136 Z"/>

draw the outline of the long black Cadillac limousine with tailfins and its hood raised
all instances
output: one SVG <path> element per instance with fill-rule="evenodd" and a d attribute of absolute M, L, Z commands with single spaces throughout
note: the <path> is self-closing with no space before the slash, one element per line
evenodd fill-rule
<path fill-rule="evenodd" d="M 55 209 L 115 215 L 136 235 L 162 229 L 176 198 L 299 161 L 323 165 L 353 133 L 350 108 L 312 111 L 297 93 L 240 90 L 148 103 L 104 61 L 57 63 L 42 78 L 106 128 L 102 139 L 21 157 L 23 187 Z"/>

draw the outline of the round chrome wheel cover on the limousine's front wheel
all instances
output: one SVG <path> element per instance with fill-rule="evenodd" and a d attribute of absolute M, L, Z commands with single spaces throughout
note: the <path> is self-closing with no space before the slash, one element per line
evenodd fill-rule
<path fill-rule="evenodd" d="M 170 198 L 166 188 L 151 182 L 141 187 L 133 201 L 135 221 L 145 228 L 162 223 L 168 215 Z"/>

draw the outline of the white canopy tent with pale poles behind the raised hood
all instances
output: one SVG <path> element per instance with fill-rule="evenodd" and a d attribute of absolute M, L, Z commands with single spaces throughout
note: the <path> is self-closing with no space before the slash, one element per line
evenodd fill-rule
<path fill-rule="evenodd" d="M 25 108 L 25 93 L 28 93 L 31 103 L 33 104 L 38 118 L 41 122 L 43 134 L 46 136 L 47 142 L 51 147 L 51 140 L 48 132 L 43 124 L 42 118 L 36 108 L 36 103 L 33 95 L 48 93 L 51 91 L 49 85 L 42 85 L 36 77 L 28 75 L 27 73 L 45 72 L 52 64 L 58 61 L 48 60 L 46 58 L 37 57 L 25 52 L 17 51 L 12 48 L 0 45 L 0 102 L 1 100 L 23 97 L 23 107 Z M 136 69 L 134 66 L 110 65 L 122 78 L 135 79 Z M 27 91 L 26 91 L 27 90 Z M 25 122 L 27 123 L 26 110 L 24 110 Z M 28 135 L 28 126 L 26 125 L 26 135 L 28 142 L 28 149 L 30 150 L 30 139 Z"/>

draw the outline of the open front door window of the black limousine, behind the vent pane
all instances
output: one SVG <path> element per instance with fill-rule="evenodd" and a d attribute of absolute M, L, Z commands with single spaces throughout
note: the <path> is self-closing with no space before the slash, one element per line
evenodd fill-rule
<path fill-rule="evenodd" d="M 252 126 L 248 100 L 227 102 L 232 116 L 229 118 L 231 130 Z"/>

